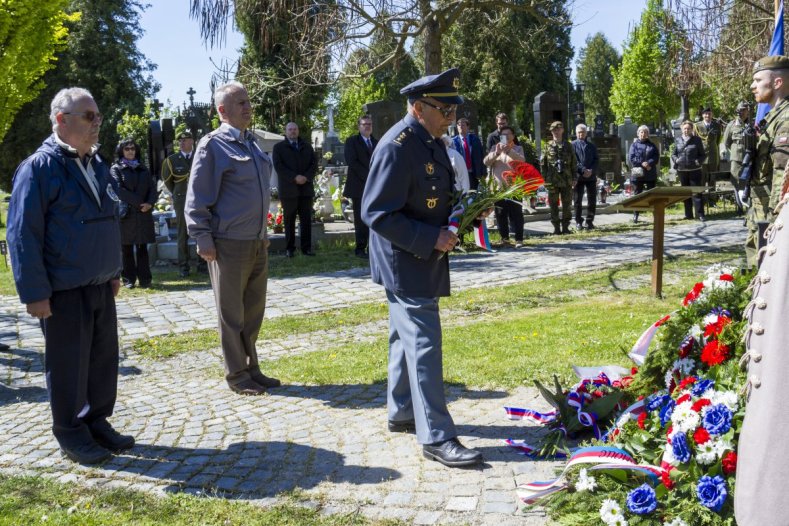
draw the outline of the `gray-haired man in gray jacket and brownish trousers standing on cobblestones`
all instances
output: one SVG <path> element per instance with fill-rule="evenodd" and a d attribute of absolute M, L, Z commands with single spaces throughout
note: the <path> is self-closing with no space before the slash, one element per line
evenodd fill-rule
<path fill-rule="evenodd" d="M 186 228 L 208 263 L 230 389 L 257 395 L 280 381 L 260 372 L 255 342 L 266 309 L 271 159 L 247 129 L 252 104 L 244 86 L 214 91 L 222 125 L 200 140 L 186 192 Z"/>

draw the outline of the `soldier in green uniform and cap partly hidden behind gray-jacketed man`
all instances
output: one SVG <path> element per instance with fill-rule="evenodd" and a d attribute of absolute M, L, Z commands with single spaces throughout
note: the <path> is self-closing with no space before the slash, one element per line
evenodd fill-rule
<path fill-rule="evenodd" d="M 178 153 L 174 153 L 162 164 L 162 182 L 173 194 L 173 208 L 178 223 L 178 267 L 181 277 L 189 275 L 189 236 L 184 221 L 186 188 L 189 186 L 189 172 L 192 170 L 192 148 L 194 137 L 188 131 L 178 134 Z"/>

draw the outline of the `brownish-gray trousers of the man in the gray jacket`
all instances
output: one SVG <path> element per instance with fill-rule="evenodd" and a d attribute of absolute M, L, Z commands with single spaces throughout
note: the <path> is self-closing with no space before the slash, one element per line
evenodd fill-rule
<path fill-rule="evenodd" d="M 208 264 L 219 315 L 219 340 L 230 385 L 259 370 L 255 342 L 266 311 L 268 241 L 214 239 L 216 260 Z"/>

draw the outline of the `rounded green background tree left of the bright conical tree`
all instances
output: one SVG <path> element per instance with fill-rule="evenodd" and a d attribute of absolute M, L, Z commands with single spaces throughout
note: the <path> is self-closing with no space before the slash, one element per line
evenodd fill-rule
<path fill-rule="evenodd" d="M 587 121 L 602 115 L 605 122 L 613 122 L 609 97 L 614 84 L 612 70 L 619 67 L 622 57 L 603 33 L 586 37 L 576 62 L 576 78 L 584 84 L 584 104 Z"/>

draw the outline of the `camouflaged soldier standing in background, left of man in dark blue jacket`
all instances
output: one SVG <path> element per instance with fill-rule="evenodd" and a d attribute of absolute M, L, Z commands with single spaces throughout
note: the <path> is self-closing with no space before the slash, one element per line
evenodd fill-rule
<path fill-rule="evenodd" d="M 553 139 L 548 141 L 540 157 L 540 171 L 548 184 L 548 206 L 551 207 L 551 223 L 556 235 L 570 233 L 573 204 L 573 179 L 575 178 L 575 152 L 567 139 L 563 138 L 564 126 L 560 121 L 551 123 Z M 559 200 L 562 202 L 562 218 L 559 220 Z"/>

